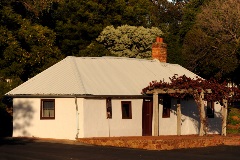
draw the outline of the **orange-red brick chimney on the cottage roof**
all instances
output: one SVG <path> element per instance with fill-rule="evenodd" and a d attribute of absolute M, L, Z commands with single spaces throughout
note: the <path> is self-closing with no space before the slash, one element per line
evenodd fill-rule
<path fill-rule="evenodd" d="M 163 38 L 157 37 L 152 44 L 152 58 L 160 62 L 167 62 L 167 44 L 163 43 Z"/>

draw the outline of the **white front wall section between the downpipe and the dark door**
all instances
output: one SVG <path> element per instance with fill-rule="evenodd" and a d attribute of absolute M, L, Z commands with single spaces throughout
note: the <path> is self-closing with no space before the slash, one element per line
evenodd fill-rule
<path fill-rule="evenodd" d="M 122 119 L 121 101 L 132 102 L 132 119 Z M 84 100 L 84 137 L 142 136 L 142 99 L 112 99 L 112 119 L 105 99 Z"/>

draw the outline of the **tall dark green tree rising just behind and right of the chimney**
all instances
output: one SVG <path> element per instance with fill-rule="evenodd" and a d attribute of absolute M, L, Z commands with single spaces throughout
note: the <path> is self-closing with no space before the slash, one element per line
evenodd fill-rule
<path fill-rule="evenodd" d="M 151 10 L 154 26 L 158 26 L 164 32 L 163 38 L 167 43 L 168 62 L 183 64 L 181 54 L 181 38 L 179 35 L 183 20 L 183 11 L 187 1 L 184 0 L 152 0 L 154 9 Z M 152 19 L 153 19 L 152 18 Z"/>

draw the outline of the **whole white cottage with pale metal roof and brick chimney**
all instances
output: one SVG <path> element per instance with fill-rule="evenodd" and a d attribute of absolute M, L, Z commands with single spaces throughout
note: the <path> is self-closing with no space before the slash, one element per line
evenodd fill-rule
<path fill-rule="evenodd" d="M 156 43 L 160 49 L 153 49 L 153 56 L 162 54 L 162 41 Z M 66 57 L 6 93 L 13 98 L 13 137 L 151 136 L 153 99 L 141 91 L 149 82 L 169 81 L 175 74 L 196 77 L 180 65 L 157 59 Z M 176 104 L 176 99 L 159 95 L 158 135 L 177 135 Z M 208 106 L 213 109 L 207 112 L 212 117 L 208 133 L 218 134 L 221 106 Z M 198 134 L 195 101 L 183 100 L 181 107 L 181 134 Z"/>

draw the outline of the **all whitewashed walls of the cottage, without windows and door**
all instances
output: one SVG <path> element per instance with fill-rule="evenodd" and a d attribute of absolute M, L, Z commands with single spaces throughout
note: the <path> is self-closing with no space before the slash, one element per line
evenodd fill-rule
<path fill-rule="evenodd" d="M 132 102 L 132 119 L 122 119 L 121 101 Z M 112 99 L 112 119 L 106 118 L 105 99 L 55 98 L 55 119 L 40 120 L 40 98 L 13 99 L 13 137 L 78 138 L 142 136 L 142 99 Z M 177 134 L 176 99 L 170 118 L 162 118 L 159 104 L 159 135 Z M 194 100 L 181 101 L 182 135 L 198 134 L 199 112 Z M 78 122 L 78 123 L 77 123 Z M 215 104 L 215 118 L 208 119 L 208 134 L 221 132 L 221 106 Z"/>

